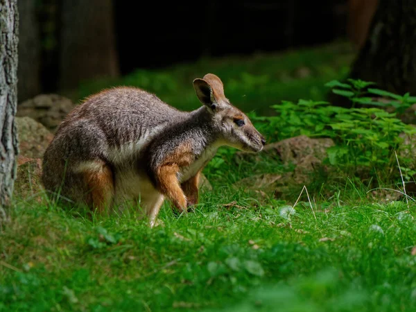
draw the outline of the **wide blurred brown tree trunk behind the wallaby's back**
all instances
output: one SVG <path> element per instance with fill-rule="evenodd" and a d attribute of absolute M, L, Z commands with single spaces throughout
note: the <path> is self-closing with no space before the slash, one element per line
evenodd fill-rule
<path fill-rule="evenodd" d="M 112 0 L 62 0 L 61 12 L 60 88 L 117 76 Z"/>

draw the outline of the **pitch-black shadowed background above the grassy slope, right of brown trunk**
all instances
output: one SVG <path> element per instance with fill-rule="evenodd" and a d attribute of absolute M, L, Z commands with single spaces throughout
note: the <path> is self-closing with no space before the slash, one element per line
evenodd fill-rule
<path fill-rule="evenodd" d="M 121 73 L 345 37 L 346 0 L 114 3 Z"/>

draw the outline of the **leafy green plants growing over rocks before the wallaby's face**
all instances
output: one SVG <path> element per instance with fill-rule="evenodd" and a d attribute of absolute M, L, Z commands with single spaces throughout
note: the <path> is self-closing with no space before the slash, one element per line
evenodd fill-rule
<path fill-rule="evenodd" d="M 363 98 L 358 96 L 369 85 L 372 83 L 361 80 L 349 80 L 349 84 L 336 80 L 327 83 L 328 87 L 343 87 L 344 89 L 333 89 L 333 92 L 350 98 L 354 103 L 363 103 Z M 408 95 L 397 96 L 378 89 L 369 89 L 369 92 L 388 95 L 397 99 L 396 103 L 400 105 L 410 105 L 413 100 Z M 371 103 L 386 106 L 390 102 Z M 329 137 L 336 142 L 336 146 L 328 149 L 327 161 L 352 175 L 365 167 L 372 171 L 373 176 L 381 175 L 388 180 L 388 169 L 397 164 L 395 151 L 403 148 L 403 138 L 400 135 L 416 133 L 415 128 L 403 123 L 396 113 L 377 107 L 344 108 L 323 101 L 305 100 L 296 104 L 283 101 L 281 105 L 272 107 L 277 116 L 252 116 L 259 123 L 260 131 L 268 135 L 268 139 L 279 141 L 297 135 Z M 401 164 L 406 167 L 412 161 L 410 158 L 401 159 Z M 406 177 L 410 179 L 410 175 Z"/>

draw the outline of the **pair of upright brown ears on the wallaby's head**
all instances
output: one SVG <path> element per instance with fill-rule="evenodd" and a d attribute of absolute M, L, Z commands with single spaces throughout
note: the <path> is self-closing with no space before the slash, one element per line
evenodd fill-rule
<path fill-rule="evenodd" d="M 225 99 L 223 83 L 213 73 L 207 73 L 203 79 L 193 80 L 193 88 L 201 103 L 212 111 L 219 105 L 220 100 Z"/>

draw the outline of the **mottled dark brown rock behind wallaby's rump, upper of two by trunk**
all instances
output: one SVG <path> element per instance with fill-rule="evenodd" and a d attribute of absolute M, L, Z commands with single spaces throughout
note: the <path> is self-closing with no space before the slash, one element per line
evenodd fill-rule
<path fill-rule="evenodd" d="M 28 116 L 55 132 L 75 104 L 58 94 L 40 94 L 17 106 L 17 116 Z"/>

